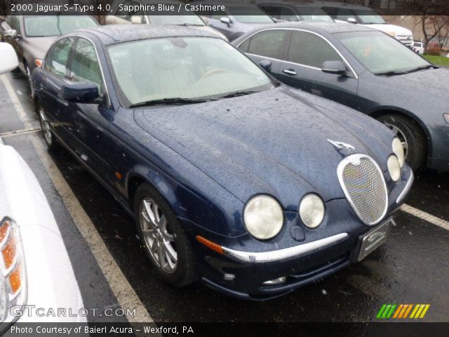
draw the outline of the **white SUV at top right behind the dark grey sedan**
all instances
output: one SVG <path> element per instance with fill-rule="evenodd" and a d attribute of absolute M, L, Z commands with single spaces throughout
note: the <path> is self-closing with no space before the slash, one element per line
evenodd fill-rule
<path fill-rule="evenodd" d="M 410 29 L 397 25 L 389 25 L 371 8 L 330 1 L 314 1 L 313 4 L 325 11 L 335 22 L 356 23 L 377 29 L 389 34 L 390 37 L 394 37 L 410 48 L 413 46 L 413 33 Z"/>

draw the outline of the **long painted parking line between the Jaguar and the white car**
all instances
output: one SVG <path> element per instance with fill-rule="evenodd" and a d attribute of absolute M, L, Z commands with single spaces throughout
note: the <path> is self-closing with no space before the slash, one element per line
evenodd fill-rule
<path fill-rule="evenodd" d="M 5 75 L 0 75 L 1 81 L 3 82 L 11 101 L 14 104 L 15 110 L 18 113 L 25 128 L 31 128 L 31 123 L 23 110 L 17 95 L 15 95 L 13 86 L 11 86 L 10 81 Z M 149 312 L 142 304 L 137 294 L 135 293 L 133 287 L 129 284 L 123 272 L 121 272 L 119 265 L 112 257 L 111 253 L 107 249 L 105 242 L 100 237 L 100 234 L 93 225 L 91 219 L 88 217 L 86 212 L 83 210 L 81 204 L 79 204 L 78 199 L 76 199 L 72 189 L 69 187 L 65 178 L 62 176 L 58 167 L 55 165 L 53 159 L 46 152 L 46 148 L 42 145 L 41 140 L 34 135 L 30 137 L 34 148 L 42 161 L 43 166 L 48 171 L 48 174 L 53 181 L 58 190 L 62 201 L 64 202 L 67 210 L 72 216 L 76 227 L 78 227 L 79 232 L 83 235 L 89 248 L 91 249 L 95 260 L 100 266 L 107 282 L 109 283 L 114 296 L 116 296 L 117 301 L 124 309 L 135 309 L 134 317 L 127 317 L 130 323 L 133 322 L 153 322 L 152 317 Z"/>

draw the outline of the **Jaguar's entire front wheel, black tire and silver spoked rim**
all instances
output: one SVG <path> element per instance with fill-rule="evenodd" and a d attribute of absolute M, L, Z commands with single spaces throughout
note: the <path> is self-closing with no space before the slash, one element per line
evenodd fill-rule
<path fill-rule="evenodd" d="M 134 212 L 140 241 L 159 277 L 176 287 L 195 282 L 198 277 L 192 244 L 161 194 L 143 183 L 135 192 Z"/>

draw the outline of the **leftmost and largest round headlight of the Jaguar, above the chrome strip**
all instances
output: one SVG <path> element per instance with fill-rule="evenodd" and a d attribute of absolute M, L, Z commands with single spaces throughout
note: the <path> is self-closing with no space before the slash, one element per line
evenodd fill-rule
<path fill-rule="evenodd" d="M 282 207 L 269 195 L 257 195 L 248 201 L 243 212 L 246 229 L 256 239 L 276 237 L 283 225 Z"/>

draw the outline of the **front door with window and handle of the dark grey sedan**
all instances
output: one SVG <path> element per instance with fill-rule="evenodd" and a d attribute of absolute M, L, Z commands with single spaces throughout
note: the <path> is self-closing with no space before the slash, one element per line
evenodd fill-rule
<path fill-rule="evenodd" d="M 279 80 L 335 102 L 356 106 L 358 79 L 347 65 L 347 74 L 327 74 L 321 71 L 325 61 L 342 61 L 326 39 L 312 32 L 293 30 L 286 58 L 280 64 Z"/>

